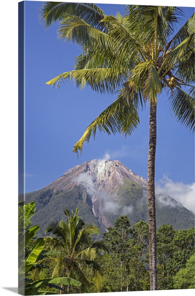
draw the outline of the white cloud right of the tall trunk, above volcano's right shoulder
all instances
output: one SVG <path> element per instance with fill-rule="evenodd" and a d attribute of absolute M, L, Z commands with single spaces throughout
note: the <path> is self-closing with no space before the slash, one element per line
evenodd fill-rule
<path fill-rule="evenodd" d="M 168 178 L 167 174 L 163 175 L 155 185 L 156 194 L 169 195 L 177 202 L 180 202 L 184 207 L 194 213 L 194 196 L 195 183 L 184 184 L 183 182 L 173 182 Z M 161 199 L 162 202 L 168 201 Z"/>

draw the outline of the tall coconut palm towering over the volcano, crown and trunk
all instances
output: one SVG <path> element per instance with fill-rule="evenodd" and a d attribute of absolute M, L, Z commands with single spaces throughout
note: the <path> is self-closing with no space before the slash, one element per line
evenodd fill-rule
<path fill-rule="evenodd" d="M 129 5 L 124 16 L 106 16 L 94 4 L 45 2 L 40 20 L 47 28 L 59 20 L 58 37 L 76 42 L 82 54 L 73 71 L 47 82 L 59 88 L 65 79 L 116 100 L 86 129 L 74 145 L 80 150 L 99 129 L 130 135 L 139 124 L 138 111 L 150 106 L 148 213 L 150 289 L 157 289 L 155 151 L 157 97 L 165 93 L 172 115 L 194 132 L 194 14 L 173 36 L 183 11 L 178 7 Z"/>

